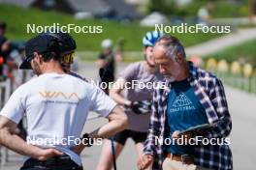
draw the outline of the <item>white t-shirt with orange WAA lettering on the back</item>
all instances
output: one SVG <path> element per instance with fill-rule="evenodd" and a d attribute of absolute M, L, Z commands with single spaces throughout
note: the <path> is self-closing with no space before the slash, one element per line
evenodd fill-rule
<path fill-rule="evenodd" d="M 80 78 L 44 73 L 17 88 L 0 115 L 17 124 L 26 114 L 27 142 L 56 147 L 81 165 L 80 156 L 69 149 L 80 138 L 88 112 L 106 117 L 115 105 L 101 89 Z"/>

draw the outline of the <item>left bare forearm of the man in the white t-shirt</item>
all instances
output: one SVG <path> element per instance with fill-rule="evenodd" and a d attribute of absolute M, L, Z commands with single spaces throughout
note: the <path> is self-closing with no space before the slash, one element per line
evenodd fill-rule
<path fill-rule="evenodd" d="M 37 158 L 41 151 L 41 149 L 36 146 L 28 145 L 19 136 L 11 133 L 8 128 L 0 129 L 0 144 L 20 155 L 34 158 Z"/>

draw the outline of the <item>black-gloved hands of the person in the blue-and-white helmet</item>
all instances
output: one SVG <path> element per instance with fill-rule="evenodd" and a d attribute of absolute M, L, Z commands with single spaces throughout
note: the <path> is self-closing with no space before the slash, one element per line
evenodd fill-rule
<path fill-rule="evenodd" d="M 151 111 L 151 100 L 141 100 L 141 101 L 130 101 L 126 100 L 124 103 L 124 107 L 127 109 L 131 109 L 135 114 L 147 114 Z"/>

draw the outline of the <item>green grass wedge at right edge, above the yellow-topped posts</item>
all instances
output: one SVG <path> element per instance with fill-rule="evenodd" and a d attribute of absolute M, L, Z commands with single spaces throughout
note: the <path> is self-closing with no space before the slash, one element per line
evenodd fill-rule
<path fill-rule="evenodd" d="M 231 46 L 217 53 L 208 55 L 204 57 L 204 59 L 208 60 L 208 58 L 213 57 L 217 60 L 225 59 L 228 62 L 242 60 L 256 67 L 255 44 L 256 44 L 256 40 L 243 42 L 239 45 Z"/>

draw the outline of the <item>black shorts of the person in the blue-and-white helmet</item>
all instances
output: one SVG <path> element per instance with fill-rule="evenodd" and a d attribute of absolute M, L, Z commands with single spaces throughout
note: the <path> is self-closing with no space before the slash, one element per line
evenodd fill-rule
<path fill-rule="evenodd" d="M 129 137 L 131 137 L 136 144 L 143 143 L 146 138 L 146 132 L 125 129 L 121 132 L 116 133 L 113 136 L 113 141 L 121 145 L 125 145 L 125 142 Z"/>

